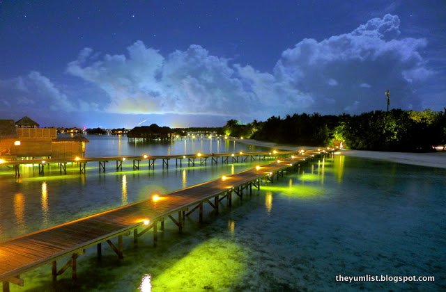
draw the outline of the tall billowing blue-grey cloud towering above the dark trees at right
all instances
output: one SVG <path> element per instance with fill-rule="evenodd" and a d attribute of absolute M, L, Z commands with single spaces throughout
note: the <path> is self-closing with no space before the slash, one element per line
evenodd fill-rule
<path fill-rule="evenodd" d="M 392 92 L 392 107 L 408 108 L 411 104 L 420 108 L 420 97 L 414 90 L 431 74 L 419 54 L 426 41 L 396 39 L 399 24 L 396 15 L 385 15 L 351 33 L 321 42 L 302 40 L 282 53 L 275 77 L 287 79 L 294 88 L 312 95 L 312 109 L 323 113 L 383 109 L 387 88 Z M 327 97 L 335 101 L 329 108 Z"/>

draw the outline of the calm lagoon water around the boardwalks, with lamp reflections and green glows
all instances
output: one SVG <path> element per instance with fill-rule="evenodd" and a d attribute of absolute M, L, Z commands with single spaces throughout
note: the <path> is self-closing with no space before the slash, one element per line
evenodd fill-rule
<path fill-rule="evenodd" d="M 132 145 L 126 138 L 89 137 L 87 156 L 190 154 L 262 150 L 232 141 L 176 141 Z M 107 150 L 102 149 L 107 146 Z M 123 172 L 97 165 L 86 175 L 73 168 L 45 177 L 15 179 L 0 169 L 0 239 L 10 238 L 144 200 L 253 164 L 155 168 Z M 37 170 L 34 170 L 37 171 Z M 13 291 L 441 291 L 446 289 L 446 170 L 348 156 L 327 156 L 302 165 L 247 200 L 215 214 L 207 209 L 186 220 L 183 234 L 169 222 L 152 247 L 150 232 L 124 259 L 104 248 L 79 257 L 78 282 L 69 273 L 52 283 L 51 268 L 23 275 Z M 337 275 L 435 276 L 435 282 L 336 282 Z"/>

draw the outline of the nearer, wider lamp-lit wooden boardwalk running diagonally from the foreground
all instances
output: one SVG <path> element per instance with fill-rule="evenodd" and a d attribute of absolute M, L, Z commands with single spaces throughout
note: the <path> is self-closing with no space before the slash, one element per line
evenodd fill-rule
<path fill-rule="evenodd" d="M 261 180 L 272 181 L 275 175 L 283 176 L 287 168 L 321 153 L 296 153 L 295 156 L 235 175 L 165 195 L 153 195 L 141 202 L 3 241 L 0 243 L 0 281 L 3 292 L 9 291 L 10 283 L 22 286 L 24 282 L 20 278 L 21 274 L 48 263 L 52 264 L 54 279 L 70 268 L 72 279 L 75 280 L 77 257 L 93 245 L 97 247 L 98 257 L 102 252 L 102 243 L 107 243 L 122 258 L 123 236 L 132 235 L 136 243 L 140 236 L 151 229 L 153 244 L 156 245 L 158 229 L 164 229 L 165 219 L 172 220 L 181 232 L 185 216 L 194 211 L 197 211 L 201 222 L 203 204 L 210 204 L 218 212 L 222 200 L 226 199 L 231 205 L 233 195 L 243 198 L 244 192 L 252 192 L 253 187 L 259 189 Z M 115 242 L 112 242 L 114 238 Z M 68 261 L 58 269 L 57 261 L 62 258 L 68 258 Z"/>

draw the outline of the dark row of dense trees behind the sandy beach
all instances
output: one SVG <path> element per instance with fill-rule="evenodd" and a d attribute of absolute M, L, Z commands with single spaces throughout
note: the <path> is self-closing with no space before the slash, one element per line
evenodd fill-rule
<path fill-rule="evenodd" d="M 350 149 L 426 152 L 434 145 L 446 145 L 446 108 L 443 112 L 392 109 L 360 115 L 295 113 L 249 124 L 229 120 L 223 131 L 230 136 L 295 145 L 342 143 Z"/>

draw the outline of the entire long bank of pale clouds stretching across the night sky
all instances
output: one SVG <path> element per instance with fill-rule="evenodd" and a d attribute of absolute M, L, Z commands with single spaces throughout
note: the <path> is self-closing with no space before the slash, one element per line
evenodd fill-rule
<path fill-rule="evenodd" d="M 399 26 L 398 16 L 385 15 L 349 33 L 301 40 L 282 52 L 270 72 L 213 56 L 197 44 L 164 55 L 141 41 L 125 54 L 85 48 L 66 72 L 95 88 L 94 94 L 76 96 L 33 71 L 0 80 L 0 102 L 30 110 L 265 119 L 287 113 L 385 109 L 384 92 L 389 89 L 392 108 L 420 109 L 417 89 L 432 74 L 419 53 L 427 43 L 399 38 Z"/>

